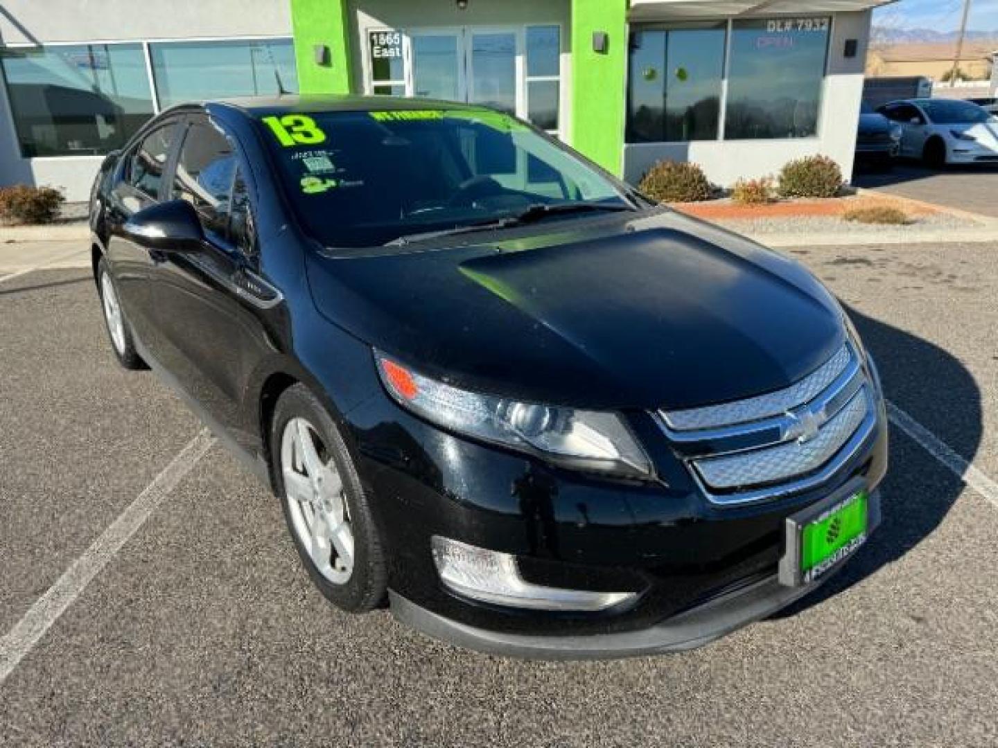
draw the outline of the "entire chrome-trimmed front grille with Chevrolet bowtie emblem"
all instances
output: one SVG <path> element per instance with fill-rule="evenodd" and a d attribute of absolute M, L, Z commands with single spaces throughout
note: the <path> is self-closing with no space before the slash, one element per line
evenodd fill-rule
<path fill-rule="evenodd" d="M 831 480 L 869 438 L 876 407 L 857 354 L 844 345 L 785 389 L 660 416 L 708 497 L 743 504 Z"/>

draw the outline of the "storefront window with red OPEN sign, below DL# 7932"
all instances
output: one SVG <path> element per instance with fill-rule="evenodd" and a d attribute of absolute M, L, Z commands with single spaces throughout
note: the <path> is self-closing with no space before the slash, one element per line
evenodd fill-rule
<path fill-rule="evenodd" d="M 725 139 L 817 134 L 827 18 L 735 21 Z"/>

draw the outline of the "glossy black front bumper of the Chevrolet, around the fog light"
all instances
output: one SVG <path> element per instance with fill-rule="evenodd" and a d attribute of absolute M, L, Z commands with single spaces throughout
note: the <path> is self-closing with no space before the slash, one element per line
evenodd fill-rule
<path fill-rule="evenodd" d="M 812 587 L 775 580 L 786 519 L 855 481 L 873 492 L 886 472 L 880 403 L 874 428 L 820 485 L 721 506 L 705 496 L 651 414 L 632 415 L 658 483 L 591 478 L 459 438 L 386 395 L 348 413 L 361 480 L 376 497 L 395 615 L 432 636 L 522 656 L 698 646 L 806 594 Z M 434 536 L 515 556 L 532 583 L 639 597 L 598 612 L 469 599 L 441 582 Z"/>

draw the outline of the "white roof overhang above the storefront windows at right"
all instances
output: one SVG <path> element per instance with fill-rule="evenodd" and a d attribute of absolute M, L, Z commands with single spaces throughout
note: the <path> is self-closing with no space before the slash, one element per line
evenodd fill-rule
<path fill-rule="evenodd" d="M 628 19 L 728 18 L 787 14 L 848 13 L 888 5 L 895 0 L 631 0 Z"/>

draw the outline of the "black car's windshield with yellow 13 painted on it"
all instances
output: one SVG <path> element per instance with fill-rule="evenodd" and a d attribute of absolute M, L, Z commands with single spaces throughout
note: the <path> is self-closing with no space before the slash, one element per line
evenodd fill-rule
<path fill-rule="evenodd" d="M 537 205 L 575 216 L 630 205 L 610 180 L 491 110 L 399 110 L 261 119 L 303 228 L 326 246 L 515 218 Z M 534 211 L 536 213 L 536 209 Z M 536 216 L 535 216 L 536 217 Z"/>

